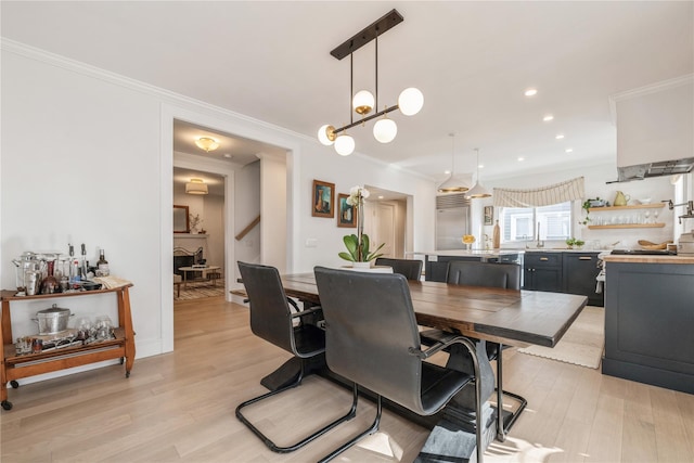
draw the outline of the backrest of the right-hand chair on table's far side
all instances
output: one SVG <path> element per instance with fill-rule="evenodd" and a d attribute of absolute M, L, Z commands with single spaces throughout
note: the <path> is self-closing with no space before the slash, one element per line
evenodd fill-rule
<path fill-rule="evenodd" d="M 448 262 L 446 281 L 449 284 L 465 286 L 520 290 L 520 266 L 516 263 L 451 260 Z"/>

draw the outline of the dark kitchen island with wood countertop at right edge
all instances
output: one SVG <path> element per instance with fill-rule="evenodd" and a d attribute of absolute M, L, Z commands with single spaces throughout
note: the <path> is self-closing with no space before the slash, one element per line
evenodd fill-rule
<path fill-rule="evenodd" d="M 611 255 L 602 372 L 694 394 L 694 257 Z"/>

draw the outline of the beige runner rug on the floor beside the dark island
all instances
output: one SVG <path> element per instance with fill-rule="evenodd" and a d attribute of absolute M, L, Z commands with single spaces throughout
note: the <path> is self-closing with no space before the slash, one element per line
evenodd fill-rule
<path fill-rule="evenodd" d="M 520 353 L 597 369 L 605 346 L 605 309 L 587 306 L 554 347 L 530 346 Z"/>

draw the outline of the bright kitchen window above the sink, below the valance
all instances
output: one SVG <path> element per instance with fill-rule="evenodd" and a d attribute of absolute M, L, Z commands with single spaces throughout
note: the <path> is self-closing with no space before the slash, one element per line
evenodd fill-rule
<path fill-rule="evenodd" d="M 543 207 L 503 207 L 501 209 L 504 243 L 537 240 L 567 240 L 571 235 L 571 202 Z"/>

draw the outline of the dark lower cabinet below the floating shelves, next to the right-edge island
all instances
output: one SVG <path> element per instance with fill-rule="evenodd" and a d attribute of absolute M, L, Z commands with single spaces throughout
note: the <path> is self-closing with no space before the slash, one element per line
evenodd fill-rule
<path fill-rule="evenodd" d="M 597 253 L 564 253 L 562 256 L 563 292 L 588 296 L 590 306 L 604 306 L 603 293 L 596 293 L 600 273 Z"/>

